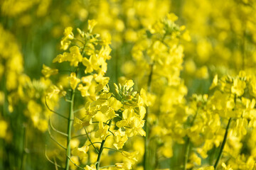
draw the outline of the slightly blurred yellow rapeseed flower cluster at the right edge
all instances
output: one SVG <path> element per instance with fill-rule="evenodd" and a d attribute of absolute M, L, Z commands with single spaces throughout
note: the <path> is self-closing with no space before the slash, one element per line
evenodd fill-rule
<path fill-rule="evenodd" d="M 245 72 L 221 79 L 216 75 L 210 86 L 214 91 L 212 95 L 193 97 L 186 133 L 191 147 L 195 149 L 188 158 L 187 166 L 201 166 L 201 159 L 212 157 L 209 153 L 220 147 L 214 168 L 253 169 L 254 152 L 245 139 L 252 137 L 255 128 L 254 79 L 255 75 Z M 245 148 L 250 148 L 250 151 L 245 152 Z M 204 169 L 207 168 L 210 167 Z M 211 168 L 214 169 L 213 166 Z"/>

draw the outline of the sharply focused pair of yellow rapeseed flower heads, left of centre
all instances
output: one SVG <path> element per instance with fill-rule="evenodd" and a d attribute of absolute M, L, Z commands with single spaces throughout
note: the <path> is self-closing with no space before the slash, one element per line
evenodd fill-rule
<path fill-rule="evenodd" d="M 132 80 L 124 81 L 123 84 L 114 84 L 115 93 L 110 92 L 108 85 L 110 78 L 105 77 L 107 60 L 111 58 L 110 42 L 100 40 L 100 35 L 92 33 L 95 25 L 96 21 L 88 21 L 87 33 L 78 29 L 79 37 L 75 37 L 73 28 L 65 28 L 60 44 L 63 50 L 69 50 L 69 52 L 58 55 L 53 62 L 68 62 L 74 71 L 69 76 L 64 76 L 69 81 L 68 86 L 60 82 L 53 85 L 53 90 L 47 94 L 47 98 L 62 94 L 65 101 L 70 103 L 67 118 L 68 132 L 63 134 L 67 137 L 66 147 L 51 133 L 50 135 L 58 145 L 66 149 L 66 169 L 69 166 L 75 169 L 88 162 L 93 165 L 87 164 L 85 169 L 100 169 L 101 157 L 105 157 L 106 149 L 116 151 L 117 154 L 120 152 L 124 157 L 123 163 L 111 166 L 116 166 L 117 169 L 132 169 L 132 165 L 137 162 L 138 153 L 119 149 L 124 147 L 129 137 L 146 135 L 143 130 L 143 118 L 146 114 L 144 98 L 142 92 L 139 94 L 133 91 Z M 46 79 L 58 72 L 61 70 L 43 66 L 42 73 Z M 82 102 L 78 100 L 80 97 L 82 97 Z M 75 110 L 78 106 L 81 108 Z M 55 111 L 52 112 L 55 113 Z M 57 114 L 63 116 L 63 114 Z M 80 140 L 73 145 L 74 140 L 71 140 L 73 134 L 86 136 L 85 145 L 80 147 Z M 95 159 L 92 157 L 89 159 L 88 154 L 97 156 Z"/>

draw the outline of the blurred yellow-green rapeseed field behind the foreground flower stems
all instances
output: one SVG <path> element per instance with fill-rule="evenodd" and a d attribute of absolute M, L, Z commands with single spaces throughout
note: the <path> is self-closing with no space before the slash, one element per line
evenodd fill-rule
<path fill-rule="evenodd" d="M 48 115 L 35 117 L 35 104 L 17 96 L 32 93 L 43 64 L 54 66 L 66 27 L 85 30 L 89 19 L 97 21 L 94 32 L 112 40 L 107 76 L 113 83 L 134 72 L 132 47 L 139 30 L 175 13 L 176 23 L 188 30 L 189 41 L 180 43 L 189 98 L 207 93 L 215 74 L 255 72 L 255 8 L 253 0 L 1 0 L 0 169 L 53 169 L 45 157 Z M 31 86 L 24 88 L 27 79 Z M 37 88 L 31 98 L 42 95 L 43 86 Z"/>

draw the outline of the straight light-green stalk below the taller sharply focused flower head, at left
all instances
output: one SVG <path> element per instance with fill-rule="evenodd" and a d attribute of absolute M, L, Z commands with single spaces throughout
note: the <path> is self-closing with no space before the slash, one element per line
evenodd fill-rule
<path fill-rule="evenodd" d="M 73 124 L 73 120 L 74 120 L 74 98 L 75 98 L 75 90 L 71 91 L 71 102 L 70 102 L 70 113 L 68 116 L 68 137 L 67 137 L 67 159 L 66 159 L 66 163 L 65 163 L 65 170 L 69 169 L 69 157 L 70 157 L 70 140 L 71 140 L 71 131 L 72 131 L 72 124 Z"/>

